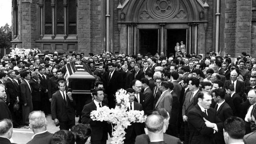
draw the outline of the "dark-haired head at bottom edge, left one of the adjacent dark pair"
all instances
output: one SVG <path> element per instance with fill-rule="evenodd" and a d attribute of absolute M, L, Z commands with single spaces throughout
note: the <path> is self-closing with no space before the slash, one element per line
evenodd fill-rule
<path fill-rule="evenodd" d="M 71 131 L 59 130 L 52 136 L 52 144 L 75 144 L 75 137 Z"/>

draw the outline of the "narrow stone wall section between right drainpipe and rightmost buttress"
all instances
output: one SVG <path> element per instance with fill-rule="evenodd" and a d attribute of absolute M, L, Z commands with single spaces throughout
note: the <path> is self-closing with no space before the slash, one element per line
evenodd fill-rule
<path fill-rule="evenodd" d="M 221 33 L 222 34 L 222 33 Z M 236 48 L 236 0 L 226 0 L 224 52 L 234 56 Z"/>

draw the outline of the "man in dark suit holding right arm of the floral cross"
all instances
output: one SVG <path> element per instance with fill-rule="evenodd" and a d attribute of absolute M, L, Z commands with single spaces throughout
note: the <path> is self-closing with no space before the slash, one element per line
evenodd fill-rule
<path fill-rule="evenodd" d="M 127 111 L 131 110 L 137 110 L 137 111 L 142 111 L 142 105 L 140 103 L 134 102 L 135 99 L 135 91 L 134 89 L 126 89 L 127 94 L 129 94 L 129 103 L 130 105 L 128 106 Z M 141 124 L 139 123 L 131 123 L 130 126 L 125 129 L 126 134 L 125 134 L 125 139 L 124 139 L 124 144 L 134 144 L 135 138 L 137 135 L 141 135 Z"/>

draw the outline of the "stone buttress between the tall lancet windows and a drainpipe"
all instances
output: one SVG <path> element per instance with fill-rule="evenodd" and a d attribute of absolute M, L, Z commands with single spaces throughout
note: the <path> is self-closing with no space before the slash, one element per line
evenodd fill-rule
<path fill-rule="evenodd" d="M 78 50 L 89 53 L 90 39 L 90 2 L 91 0 L 78 0 L 77 26 L 78 26 Z M 85 54 L 87 55 L 87 54 Z"/>

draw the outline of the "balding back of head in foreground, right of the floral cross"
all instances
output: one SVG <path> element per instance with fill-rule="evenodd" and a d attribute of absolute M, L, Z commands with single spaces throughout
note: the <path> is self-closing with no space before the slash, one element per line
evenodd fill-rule
<path fill-rule="evenodd" d="M 145 126 L 147 130 L 152 133 L 163 131 L 163 117 L 158 114 L 151 114 L 147 117 Z"/>

